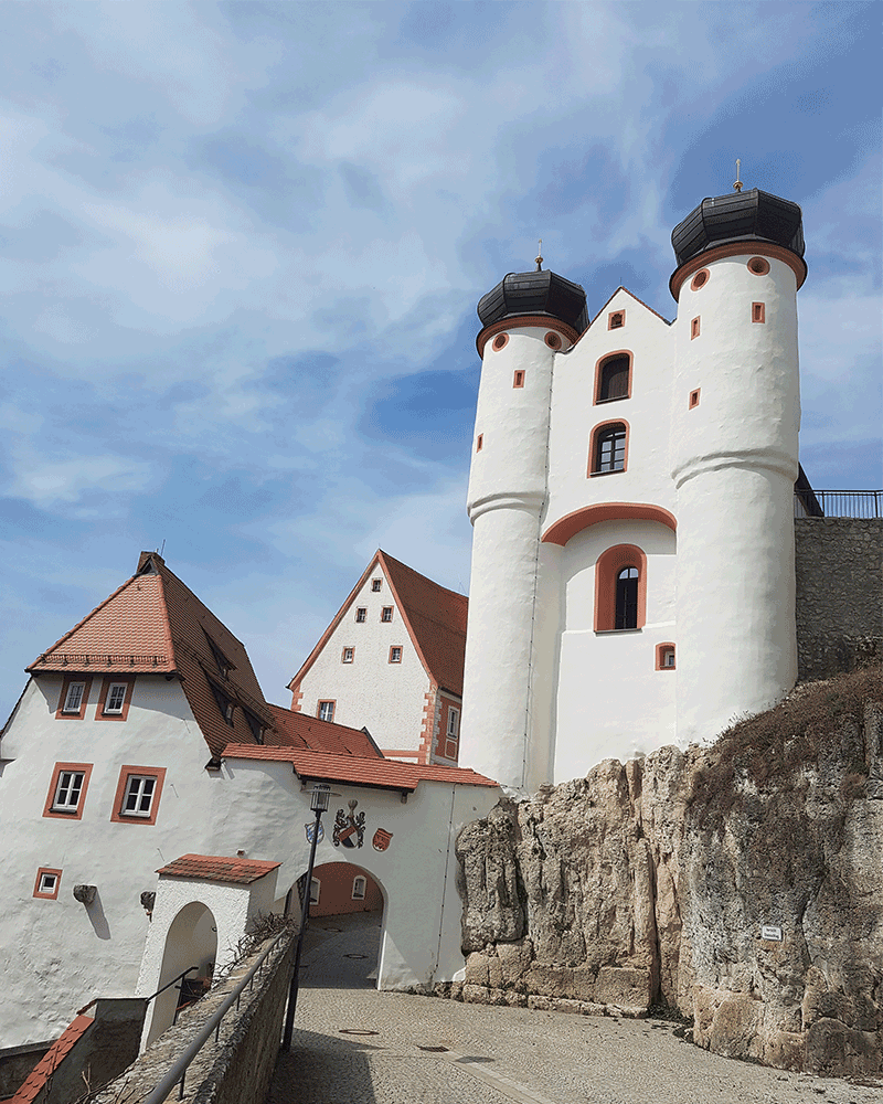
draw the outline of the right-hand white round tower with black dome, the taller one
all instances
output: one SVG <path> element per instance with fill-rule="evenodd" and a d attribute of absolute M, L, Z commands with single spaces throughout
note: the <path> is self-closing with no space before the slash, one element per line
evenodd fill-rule
<path fill-rule="evenodd" d="M 794 484 L 800 208 L 757 189 L 672 232 L 678 301 L 678 740 L 711 740 L 797 678 Z"/>

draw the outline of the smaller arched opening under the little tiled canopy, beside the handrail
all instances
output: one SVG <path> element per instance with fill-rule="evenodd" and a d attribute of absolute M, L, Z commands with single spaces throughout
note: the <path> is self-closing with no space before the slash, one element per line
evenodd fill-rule
<path fill-rule="evenodd" d="M 196 969 L 155 999 L 146 1045 L 149 1047 L 171 1027 L 179 1007 L 192 1002 L 209 988 L 216 956 L 217 924 L 214 915 L 201 901 L 191 901 L 174 917 L 166 936 L 157 989 L 168 985 L 189 966 Z"/>

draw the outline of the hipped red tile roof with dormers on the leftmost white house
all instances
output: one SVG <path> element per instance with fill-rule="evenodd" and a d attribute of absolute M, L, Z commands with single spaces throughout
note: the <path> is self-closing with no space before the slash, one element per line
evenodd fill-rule
<path fill-rule="evenodd" d="M 231 667 L 224 675 L 219 654 Z M 284 740 L 240 640 L 156 552 L 142 552 L 138 571 L 28 668 L 32 675 L 177 675 L 213 755 L 231 740 L 254 741 L 248 714 L 263 739 Z M 234 707 L 232 724 L 224 703 Z"/>

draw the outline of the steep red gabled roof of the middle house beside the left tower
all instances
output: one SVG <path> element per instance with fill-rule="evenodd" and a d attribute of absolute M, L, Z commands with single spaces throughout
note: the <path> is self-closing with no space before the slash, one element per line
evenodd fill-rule
<path fill-rule="evenodd" d="M 352 606 L 368 576 L 380 566 L 426 673 L 443 690 L 462 696 L 466 655 L 466 617 L 469 599 L 465 594 L 439 586 L 425 575 L 377 550 L 362 577 L 337 612 L 307 661 L 288 683 L 296 689 L 318 659 L 331 634 Z"/>

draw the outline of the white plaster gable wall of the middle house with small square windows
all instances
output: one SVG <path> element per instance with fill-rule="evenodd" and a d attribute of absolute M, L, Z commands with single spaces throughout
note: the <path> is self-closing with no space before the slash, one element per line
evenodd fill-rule
<path fill-rule="evenodd" d="M 376 594 L 371 580 L 381 578 Z M 368 609 L 357 623 L 355 609 Z M 391 623 L 381 622 L 384 606 L 394 606 Z M 402 662 L 391 664 L 390 648 L 402 647 Z M 355 648 L 352 664 L 342 664 L 343 648 Z M 411 641 L 402 613 L 380 567 L 365 581 L 340 624 L 300 684 L 300 711 L 316 716 L 319 702 L 337 700 L 334 721 L 366 728 L 381 749 L 421 745 L 423 708 L 429 677 Z"/>

